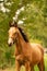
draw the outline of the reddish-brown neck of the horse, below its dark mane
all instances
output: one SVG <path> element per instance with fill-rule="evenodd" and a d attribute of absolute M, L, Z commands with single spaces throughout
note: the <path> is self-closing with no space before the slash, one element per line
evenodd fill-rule
<path fill-rule="evenodd" d="M 17 40 L 16 40 L 16 49 L 17 51 L 23 51 L 25 45 L 25 40 L 21 33 L 17 35 Z"/>

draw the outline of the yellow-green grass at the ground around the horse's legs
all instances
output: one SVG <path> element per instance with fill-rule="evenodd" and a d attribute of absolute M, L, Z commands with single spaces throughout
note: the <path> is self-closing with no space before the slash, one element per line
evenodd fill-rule
<path fill-rule="evenodd" d="M 44 60 L 45 60 L 45 71 L 47 71 L 47 55 L 46 54 L 45 54 Z M 8 68 L 5 70 L 0 70 L 0 71 L 15 71 L 15 68 L 14 67 L 13 68 Z M 21 71 L 25 71 L 25 68 L 22 67 Z M 38 71 L 37 66 L 35 66 L 35 71 Z"/>

